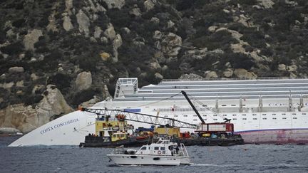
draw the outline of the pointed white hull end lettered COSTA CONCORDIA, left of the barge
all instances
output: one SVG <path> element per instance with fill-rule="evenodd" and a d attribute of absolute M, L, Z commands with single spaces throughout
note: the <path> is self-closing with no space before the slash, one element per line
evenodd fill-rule
<path fill-rule="evenodd" d="M 36 128 L 9 147 L 31 145 L 79 145 L 84 137 L 95 132 L 95 114 L 75 111 Z"/>

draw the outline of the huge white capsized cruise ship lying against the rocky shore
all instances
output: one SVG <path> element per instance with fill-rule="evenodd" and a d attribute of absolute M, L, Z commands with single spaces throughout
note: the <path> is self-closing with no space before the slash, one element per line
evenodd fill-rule
<path fill-rule="evenodd" d="M 114 98 L 92 108 L 126 110 L 199 124 L 181 90 L 188 93 L 205 122 L 230 119 L 235 132 L 246 143 L 308 143 L 306 78 L 163 80 L 142 88 L 138 88 L 138 78 L 119 78 Z M 93 113 L 71 112 L 9 146 L 79 145 L 88 133 L 95 132 L 95 118 Z M 129 123 L 134 127 L 150 126 Z"/>

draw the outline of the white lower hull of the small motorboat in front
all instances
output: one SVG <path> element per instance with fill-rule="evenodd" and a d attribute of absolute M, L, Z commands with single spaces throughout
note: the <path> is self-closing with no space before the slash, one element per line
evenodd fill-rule
<path fill-rule="evenodd" d="M 142 154 L 107 154 L 107 157 L 121 165 L 180 165 L 190 164 L 190 157 L 142 155 Z"/>

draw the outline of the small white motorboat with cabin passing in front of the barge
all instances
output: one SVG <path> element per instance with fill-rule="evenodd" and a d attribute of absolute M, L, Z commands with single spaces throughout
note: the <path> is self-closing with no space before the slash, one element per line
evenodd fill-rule
<path fill-rule="evenodd" d="M 180 165 L 190 164 L 190 156 L 183 144 L 158 140 L 151 145 L 143 145 L 139 150 L 125 150 L 117 147 L 107 156 L 116 164 L 135 165 Z"/>

